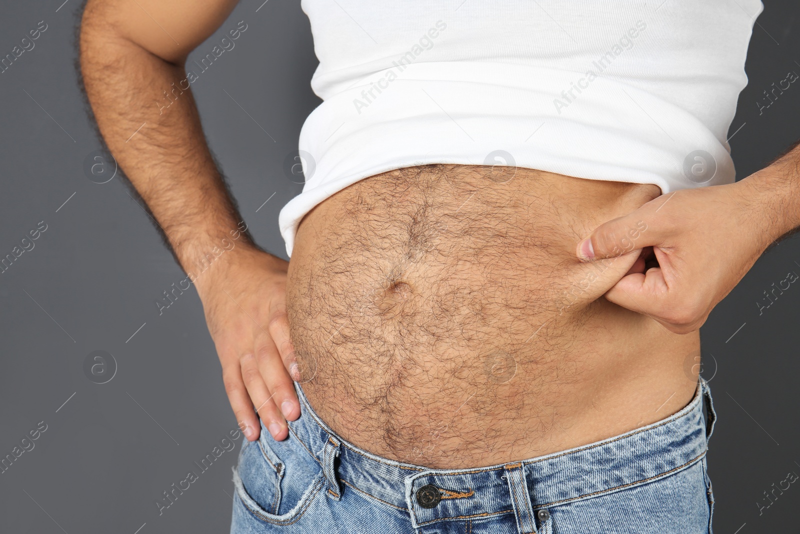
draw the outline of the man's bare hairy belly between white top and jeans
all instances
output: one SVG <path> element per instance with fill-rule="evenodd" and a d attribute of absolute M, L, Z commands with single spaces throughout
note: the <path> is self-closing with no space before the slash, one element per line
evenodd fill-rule
<path fill-rule="evenodd" d="M 694 394 L 698 333 L 602 297 L 637 254 L 575 257 L 595 227 L 659 194 L 430 165 L 326 199 L 299 227 L 287 283 L 310 403 L 344 439 L 430 468 L 541 456 L 677 412 Z"/>

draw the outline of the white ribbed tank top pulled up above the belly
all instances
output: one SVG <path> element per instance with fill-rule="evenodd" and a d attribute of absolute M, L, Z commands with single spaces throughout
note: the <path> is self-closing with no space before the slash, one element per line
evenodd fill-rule
<path fill-rule="evenodd" d="M 760 0 L 302 0 L 324 102 L 298 223 L 360 179 L 510 165 L 662 193 L 734 181 L 726 135 Z"/>

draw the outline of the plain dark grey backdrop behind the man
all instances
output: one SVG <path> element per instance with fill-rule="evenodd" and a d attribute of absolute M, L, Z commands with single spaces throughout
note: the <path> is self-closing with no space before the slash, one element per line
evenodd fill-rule
<path fill-rule="evenodd" d="M 62 1 L 0 7 L 2 55 L 39 21 L 48 25 L 34 49 L 0 74 L 0 256 L 47 224 L 34 249 L 0 275 L 0 457 L 39 421 L 47 424 L 34 449 L 0 474 L 0 531 L 227 532 L 238 442 L 161 516 L 154 504 L 198 471 L 193 462 L 236 421 L 196 293 L 160 316 L 154 305 L 185 275 L 122 182 L 93 183 L 83 171 L 101 145 L 74 69 L 82 6 Z M 193 57 L 210 52 L 238 21 L 248 25 L 192 89 L 255 239 L 285 257 L 278 210 L 301 186 L 284 174 L 284 160 L 319 103 L 309 86 L 317 61 L 299 2 L 262 2 L 241 2 L 198 47 Z M 795 0 L 765 3 L 746 63 L 750 84 L 730 130 L 740 179 L 800 130 L 794 84 L 758 113 L 763 90 L 789 70 L 800 73 L 800 8 Z M 154 110 L 131 113 L 145 122 Z M 800 474 L 800 289 L 790 287 L 762 315 L 756 304 L 789 271 L 800 274 L 798 239 L 759 259 L 702 328 L 703 375 L 719 415 L 709 458 L 718 533 L 786 532 L 800 503 L 793 484 L 761 515 L 756 504 L 787 473 Z M 96 350 L 117 363 L 108 383 L 84 374 Z"/>

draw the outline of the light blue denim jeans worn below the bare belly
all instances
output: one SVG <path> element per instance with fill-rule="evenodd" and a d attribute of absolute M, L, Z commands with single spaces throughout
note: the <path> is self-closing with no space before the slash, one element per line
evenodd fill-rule
<path fill-rule="evenodd" d="M 714 498 L 708 384 L 686 408 L 622 436 L 488 468 L 429 469 L 342 440 L 295 384 L 289 437 L 244 440 L 231 534 L 699 534 Z M 703 400 L 706 401 L 706 416 Z M 707 420 L 707 425 L 706 425 Z"/>

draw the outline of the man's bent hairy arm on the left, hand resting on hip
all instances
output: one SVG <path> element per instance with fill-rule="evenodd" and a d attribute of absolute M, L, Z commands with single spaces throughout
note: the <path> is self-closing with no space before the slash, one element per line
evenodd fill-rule
<path fill-rule="evenodd" d="M 258 438 L 255 406 L 282 440 L 288 434 L 284 416 L 294 420 L 300 413 L 286 371 L 294 363 L 284 293 L 287 263 L 240 233 L 242 218 L 206 145 L 184 70 L 186 56 L 235 4 L 89 0 L 81 70 L 103 139 L 190 279 L 206 255 L 229 250 L 192 282 L 240 426 L 249 440 Z M 172 101 L 169 107 L 165 98 Z M 228 249 L 232 239 L 236 246 Z"/>

